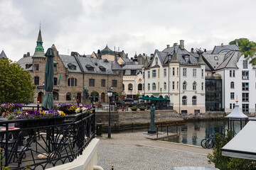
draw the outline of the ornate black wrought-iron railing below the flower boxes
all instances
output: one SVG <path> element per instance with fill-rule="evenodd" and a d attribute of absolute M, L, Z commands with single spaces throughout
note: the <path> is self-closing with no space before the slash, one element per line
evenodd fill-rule
<path fill-rule="evenodd" d="M 9 129 L 11 123 L 16 128 Z M 95 109 L 55 118 L 1 120 L 0 127 L 0 169 L 48 169 L 82 154 L 95 137 Z"/>

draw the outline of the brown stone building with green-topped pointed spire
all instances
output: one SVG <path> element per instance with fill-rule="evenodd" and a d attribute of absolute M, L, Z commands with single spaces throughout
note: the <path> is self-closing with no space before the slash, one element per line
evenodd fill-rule
<path fill-rule="evenodd" d="M 108 102 L 107 91 L 112 86 L 114 100 L 119 100 L 118 94 L 122 92 L 122 67 L 117 62 L 88 55 L 80 56 L 78 52 L 71 52 L 71 55 L 59 55 L 55 45 L 52 48 L 55 54 L 53 57 L 54 103 L 76 103 L 77 100 L 81 103 L 85 86 L 93 99 L 102 103 Z M 46 67 L 41 30 L 38 33 L 33 56 L 28 52 L 18 63 L 25 70 L 31 72 L 33 82 L 37 86 L 33 102 L 41 103 Z M 94 95 L 92 95 L 92 91 Z"/>

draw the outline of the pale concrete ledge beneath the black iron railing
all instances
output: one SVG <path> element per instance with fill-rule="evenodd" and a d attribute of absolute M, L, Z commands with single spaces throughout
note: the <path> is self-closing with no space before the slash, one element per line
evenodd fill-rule
<path fill-rule="evenodd" d="M 73 162 L 54 166 L 48 170 L 91 170 L 93 166 L 97 165 L 97 148 L 100 144 L 99 139 L 93 139 L 90 144 L 85 148 L 82 154 L 77 157 Z"/>

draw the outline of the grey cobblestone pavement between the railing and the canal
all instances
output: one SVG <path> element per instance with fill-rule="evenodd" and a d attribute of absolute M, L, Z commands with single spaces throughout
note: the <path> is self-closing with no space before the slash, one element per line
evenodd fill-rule
<path fill-rule="evenodd" d="M 207 154 L 212 149 L 146 139 L 142 132 L 115 133 L 111 139 L 100 137 L 97 164 L 103 169 L 149 170 L 174 166 L 210 166 Z"/>

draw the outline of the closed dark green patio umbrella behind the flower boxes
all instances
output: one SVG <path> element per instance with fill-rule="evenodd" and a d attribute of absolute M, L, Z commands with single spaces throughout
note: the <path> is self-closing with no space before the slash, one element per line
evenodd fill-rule
<path fill-rule="evenodd" d="M 46 94 L 43 96 L 42 108 L 45 110 L 51 110 L 53 109 L 53 49 L 48 48 L 45 56 L 47 57 L 44 78 Z"/>

